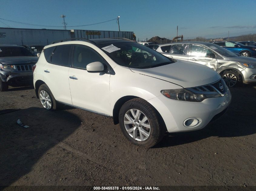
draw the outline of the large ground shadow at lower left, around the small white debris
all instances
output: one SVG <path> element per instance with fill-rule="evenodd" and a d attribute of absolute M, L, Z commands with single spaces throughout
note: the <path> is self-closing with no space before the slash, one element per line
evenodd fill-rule
<path fill-rule="evenodd" d="M 19 126 L 17 119 L 29 127 Z M 68 111 L 36 107 L 1 114 L 0 122 L 1 186 L 11 185 L 29 173 L 50 148 L 81 125 L 81 119 Z"/>

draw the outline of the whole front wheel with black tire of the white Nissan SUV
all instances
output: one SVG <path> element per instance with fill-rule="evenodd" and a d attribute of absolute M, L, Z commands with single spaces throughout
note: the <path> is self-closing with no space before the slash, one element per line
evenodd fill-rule
<path fill-rule="evenodd" d="M 135 98 L 123 104 L 119 124 L 126 138 L 133 144 L 151 148 L 164 136 L 165 128 L 158 113 L 147 101 Z"/>

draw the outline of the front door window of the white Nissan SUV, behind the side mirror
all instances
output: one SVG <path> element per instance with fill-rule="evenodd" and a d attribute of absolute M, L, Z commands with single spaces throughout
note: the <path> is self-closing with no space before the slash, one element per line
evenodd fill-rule
<path fill-rule="evenodd" d="M 75 46 L 73 67 L 86 69 L 86 66 L 91 62 L 104 63 L 105 60 L 89 47 Z"/>

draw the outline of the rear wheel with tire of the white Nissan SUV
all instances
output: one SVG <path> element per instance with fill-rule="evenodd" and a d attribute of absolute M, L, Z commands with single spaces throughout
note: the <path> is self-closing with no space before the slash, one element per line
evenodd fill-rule
<path fill-rule="evenodd" d="M 46 110 L 56 110 L 57 109 L 57 102 L 52 95 L 49 87 L 46 84 L 42 84 L 38 88 L 38 95 L 42 106 Z"/>

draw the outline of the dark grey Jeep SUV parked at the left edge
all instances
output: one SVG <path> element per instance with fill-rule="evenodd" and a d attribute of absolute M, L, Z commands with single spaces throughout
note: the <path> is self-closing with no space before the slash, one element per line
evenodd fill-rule
<path fill-rule="evenodd" d="M 23 46 L 0 45 L 0 91 L 8 86 L 33 85 L 32 66 L 38 61 Z"/>

